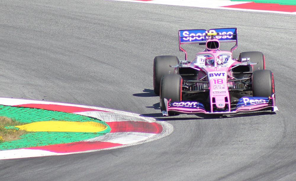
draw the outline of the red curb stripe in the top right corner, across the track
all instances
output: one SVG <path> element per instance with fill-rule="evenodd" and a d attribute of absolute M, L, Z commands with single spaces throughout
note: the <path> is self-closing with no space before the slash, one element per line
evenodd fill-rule
<path fill-rule="evenodd" d="M 245 3 L 245 4 L 236 4 L 236 5 L 230 5 L 230 6 L 222 6 L 222 7 L 266 10 L 266 11 L 296 12 L 296 6 L 293 6 L 293 5 L 280 5 L 280 4 L 268 4 L 268 3 L 255 3 L 255 2 Z"/>

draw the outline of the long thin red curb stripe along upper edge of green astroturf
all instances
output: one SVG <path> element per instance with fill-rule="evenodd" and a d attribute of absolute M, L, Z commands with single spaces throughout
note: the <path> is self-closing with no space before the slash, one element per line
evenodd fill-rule
<path fill-rule="evenodd" d="M 14 105 L 14 107 L 28 107 L 28 108 L 36 108 L 36 109 L 45 109 L 50 111 L 60 111 L 60 112 L 85 112 L 85 111 L 100 111 L 100 112 L 110 112 L 104 110 L 97 110 L 85 107 L 75 107 L 75 106 L 65 106 L 65 105 L 55 105 L 55 104 L 22 104 L 22 105 Z"/>

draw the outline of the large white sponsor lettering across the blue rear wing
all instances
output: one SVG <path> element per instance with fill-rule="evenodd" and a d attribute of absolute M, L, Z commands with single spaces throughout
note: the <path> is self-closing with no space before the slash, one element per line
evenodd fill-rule
<path fill-rule="evenodd" d="M 215 33 L 216 31 L 215 30 L 211 30 L 210 33 Z M 226 39 L 226 38 L 233 38 L 233 32 L 218 32 L 219 35 L 224 35 L 224 36 L 215 36 L 218 40 L 219 39 Z M 192 41 L 192 40 L 202 40 L 202 39 L 208 39 L 208 37 L 206 36 L 205 37 L 205 33 L 191 33 L 189 34 L 188 31 L 184 31 L 183 32 L 183 36 L 185 36 L 183 38 L 183 40 L 189 40 L 189 41 Z"/>

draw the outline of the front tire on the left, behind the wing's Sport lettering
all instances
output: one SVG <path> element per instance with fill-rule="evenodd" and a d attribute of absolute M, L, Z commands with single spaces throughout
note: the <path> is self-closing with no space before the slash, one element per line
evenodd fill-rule
<path fill-rule="evenodd" d="M 165 75 L 160 83 L 160 110 L 166 109 L 164 99 L 171 102 L 181 102 L 182 96 L 182 78 L 177 74 Z M 169 116 L 179 115 L 177 112 L 170 112 Z"/>

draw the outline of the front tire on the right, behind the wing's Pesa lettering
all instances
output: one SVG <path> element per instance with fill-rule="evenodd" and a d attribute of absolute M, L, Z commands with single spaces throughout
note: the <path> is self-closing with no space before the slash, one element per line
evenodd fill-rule
<path fill-rule="evenodd" d="M 271 97 L 275 92 L 272 72 L 270 70 L 254 71 L 252 86 L 254 97 Z"/>

